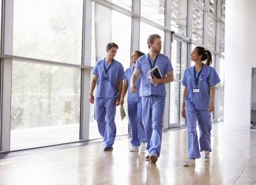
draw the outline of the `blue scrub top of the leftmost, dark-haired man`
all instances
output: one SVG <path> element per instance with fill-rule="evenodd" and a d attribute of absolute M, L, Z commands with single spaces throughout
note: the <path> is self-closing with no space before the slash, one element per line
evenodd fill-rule
<path fill-rule="evenodd" d="M 108 68 L 107 74 L 104 68 Z M 98 76 L 96 98 L 116 98 L 119 92 L 119 78 L 122 78 L 123 67 L 119 61 L 107 64 L 105 59 L 98 61 L 92 70 L 92 74 Z"/>

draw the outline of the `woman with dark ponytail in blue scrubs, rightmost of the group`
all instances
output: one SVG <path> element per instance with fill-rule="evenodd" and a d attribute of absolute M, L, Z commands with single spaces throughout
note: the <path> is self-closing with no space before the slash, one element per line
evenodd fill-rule
<path fill-rule="evenodd" d="M 209 50 L 197 46 L 190 54 L 194 66 L 186 68 L 183 76 L 183 109 L 182 116 L 187 124 L 187 152 L 189 157 L 183 162 L 184 166 L 195 165 L 195 159 L 200 158 L 201 151 L 205 152 L 205 161 L 209 161 L 211 148 L 211 117 L 214 110 L 215 85 L 220 82 L 212 68 L 212 54 Z M 205 61 L 205 64 L 203 61 Z M 197 134 L 199 126 L 199 143 Z"/>

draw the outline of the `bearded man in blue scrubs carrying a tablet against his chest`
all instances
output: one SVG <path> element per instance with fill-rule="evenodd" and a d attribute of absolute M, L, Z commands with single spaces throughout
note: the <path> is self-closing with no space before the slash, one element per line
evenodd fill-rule
<path fill-rule="evenodd" d="M 142 100 L 142 120 L 147 135 L 147 161 L 156 163 L 160 157 L 162 143 L 162 124 L 165 103 L 165 84 L 173 81 L 173 68 L 170 59 L 160 54 L 162 42 L 160 35 L 149 35 L 147 40 L 149 54 L 137 59 L 133 76 L 130 80 L 130 91 L 136 93 L 137 78 L 141 75 L 140 96 Z M 151 76 L 149 71 L 158 66 L 163 78 Z"/>

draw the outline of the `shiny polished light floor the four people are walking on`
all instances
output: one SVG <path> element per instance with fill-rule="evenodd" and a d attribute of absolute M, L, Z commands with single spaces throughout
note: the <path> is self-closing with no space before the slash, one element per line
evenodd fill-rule
<path fill-rule="evenodd" d="M 193 167 L 183 167 L 186 129 L 164 131 L 156 164 L 129 152 L 127 136 L 116 138 L 112 152 L 92 141 L 0 154 L 0 184 L 256 184 L 256 130 L 220 123 L 212 133 L 211 161 Z"/>

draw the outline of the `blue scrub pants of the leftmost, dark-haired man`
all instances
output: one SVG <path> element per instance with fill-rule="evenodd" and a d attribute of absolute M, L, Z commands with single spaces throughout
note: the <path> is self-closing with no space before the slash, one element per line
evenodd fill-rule
<path fill-rule="evenodd" d="M 94 115 L 104 147 L 111 147 L 115 141 L 115 98 L 96 98 Z"/>

